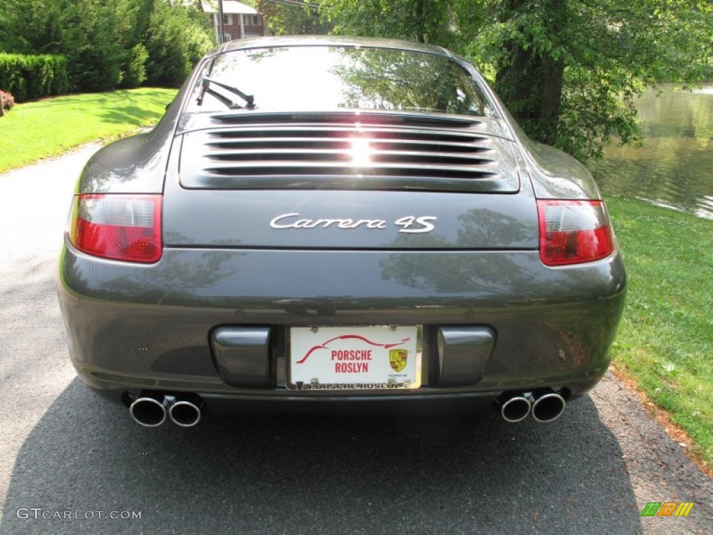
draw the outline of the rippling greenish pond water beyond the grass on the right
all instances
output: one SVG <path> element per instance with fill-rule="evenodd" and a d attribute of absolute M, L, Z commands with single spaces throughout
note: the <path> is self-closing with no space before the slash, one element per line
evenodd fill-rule
<path fill-rule="evenodd" d="M 713 219 L 713 83 L 692 92 L 662 89 L 637 101 L 642 146 L 606 146 L 589 168 L 605 195 Z"/>

